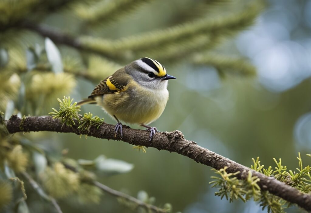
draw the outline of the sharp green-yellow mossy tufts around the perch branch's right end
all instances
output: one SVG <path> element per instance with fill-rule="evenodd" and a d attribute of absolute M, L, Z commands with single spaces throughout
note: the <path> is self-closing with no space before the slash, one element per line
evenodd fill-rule
<path fill-rule="evenodd" d="M 307 155 L 311 157 L 310 154 Z M 264 165 L 260 164 L 259 157 L 256 160 L 252 159 L 253 165 L 251 165 L 251 169 L 266 176 L 274 177 L 291 187 L 297 188 L 301 192 L 310 193 L 311 176 L 309 172 L 311 171 L 311 167 L 303 167 L 300 153 L 298 153 L 297 159 L 299 164 L 299 168 L 296 168 L 297 171 L 287 170 L 287 167 L 282 165 L 281 159 L 277 161 L 275 158 L 273 158 L 276 163 L 275 170 L 272 169 L 272 166 L 265 169 Z M 239 172 L 227 173 L 226 169 L 227 167 L 220 170 L 213 169 L 217 176 L 211 177 L 215 180 L 211 181 L 210 184 L 213 184 L 212 187 L 218 188 L 219 191 L 215 192 L 216 196 L 220 196 L 221 198 L 226 197 L 230 202 L 238 199 L 245 202 L 253 198 L 254 201 L 259 202 L 262 210 L 267 207 L 267 212 L 269 213 L 285 212 L 284 209 L 293 205 L 268 191 L 262 191 L 257 184 L 260 179 L 252 176 L 251 171 L 249 171 L 246 180 L 238 180 L 236 174 L 239 174 Z"/>

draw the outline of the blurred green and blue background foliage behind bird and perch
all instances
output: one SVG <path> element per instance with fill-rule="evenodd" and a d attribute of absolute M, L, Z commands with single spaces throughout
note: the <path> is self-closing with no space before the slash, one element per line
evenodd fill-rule
<path fill-rule="evenodd" d="M 244 165 L 257 156 L 273 165 L 276 157 L 294 169 L 297 152 L 310 153 L 310 0 L 1 0 L 0 11 L 0 110 L 6 119 L 46 115 L 63 95 L 85 98 L 100 80 L 146 56 L 177 77 L 152 124 L 159 130 L 179 129 Z M 88 112 L 115 123 L 97 106 L 81 108 Z M 137 152 L 124 142 L 73 134 L 0 133 L 4 212 L 54 212 L 21 175 L 25 171 L 64 212 L 131 211 L 88 184 L 95 174 L 156 206 L 169 202 L 173 212 L 262 211 L 254 202 L 215 197 L 208 184 L 213 171 L 176 153 Z M 25 182 L 26 200 L 21 182 L 7 180 L 14 173 Z"/>

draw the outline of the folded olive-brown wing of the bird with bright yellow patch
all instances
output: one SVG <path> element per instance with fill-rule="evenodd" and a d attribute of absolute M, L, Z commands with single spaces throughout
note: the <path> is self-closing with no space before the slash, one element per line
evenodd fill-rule
<path fill-rule="evenodd" d="M 103 81 L 100 81 L 100 83 L 95 87 L 90 96 L 124 92 L 127 89 L 129 79 L 130 76 L 125 73 L 124 68 L 121 68 L 116 71 L 112 76 L 109 76 Z"/>

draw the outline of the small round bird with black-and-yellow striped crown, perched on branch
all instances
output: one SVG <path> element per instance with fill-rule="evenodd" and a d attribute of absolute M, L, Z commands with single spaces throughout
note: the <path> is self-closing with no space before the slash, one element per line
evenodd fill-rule
<path fill-rule="evenodd" d="M 165 68 L 151 58 L 140 58 L 108 76 L 95 87 L 91 95 L 78 105 L 100 105 L 117 124 L 115 135 L 123 137 L 122 123 L 136 123 L 150 131 L 150 140 L 156 127 L 148 126 L 163 113 L 169 99 L 167 83 L 174 76 L 166 74 Z M 120 119 L 120 120 L 119 120 Z"/>

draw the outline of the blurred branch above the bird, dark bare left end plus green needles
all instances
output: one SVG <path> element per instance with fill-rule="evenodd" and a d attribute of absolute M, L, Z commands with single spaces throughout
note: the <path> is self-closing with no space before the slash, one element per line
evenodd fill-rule
<path fill-rule="evenodd" d="M 179 25 L 168 27 L 163 30 L 154 30 L 139 35 L 132 35 L 121 39 L 104 39 L 93 36 L 81 35 L 74 37 L 60 30 L 51 29 L 48 26 L 36 23 L 24 22 L 19 27 L 35 31 L 44 37 L 49 37 L 55 43 L 65 44 L 77 49 L 99 53 L 109 58 L 133 59 L 142 55 L 154 54 L 156 48 L 161 48 L 171 53 L 167 57 L 174 57 L 178 52 L 185 52 L 189 46 L 189 39 L 198 40 L 195 49 L 202 49 L 202 41 L 208 44 L 208 35 L 227 37 L 235 35 L 240 30 L 253 24 L 263 8 L 262 1 L 258 0 L 249 4 L 242 12 L 227 15 L 225 17 L 203 18 L 195 21 L 188 21 Z M 207 38 L 202 38 L 204 35 Z M 212 47 L 212 46 L 211 46 Z M 193 44 L 190 49 L 193 49 Z"/>

